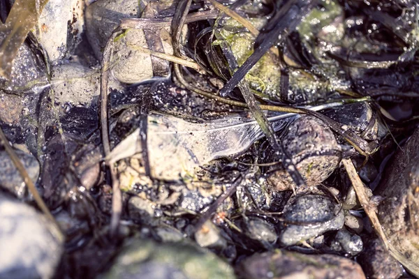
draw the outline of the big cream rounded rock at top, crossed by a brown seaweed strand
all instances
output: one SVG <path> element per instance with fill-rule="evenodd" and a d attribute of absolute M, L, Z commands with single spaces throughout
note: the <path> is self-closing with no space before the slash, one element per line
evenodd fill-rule
<path fill-rule="evenodd" d="M 87 7 L 87 30 L 89 40 L 98 59 L 113 29 L 119 20 L 138 17 L 140 2 L 135 0 L 108 1 L 100 0 Z M 151 4 L 150 4 L 151 5 Z M 155 10 L 147 5 L 142 10 L 142 17 L 154 17 Z M 126 84 L 135 84 L 153 77 L 169 75 L 168 61 L 152 57 L 143 49 L 172 54 L 169 28 L 156 30 L 128 29 L 114 40 L 116 63 L 112 73 Z"/>

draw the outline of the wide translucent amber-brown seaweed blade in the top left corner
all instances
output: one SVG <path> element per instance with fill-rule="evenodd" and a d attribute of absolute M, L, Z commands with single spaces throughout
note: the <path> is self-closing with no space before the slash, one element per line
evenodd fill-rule
<path fill-rule="evenodd" d="M 0 32 L 4 36 L 0 43 L 0 76 L 10 76 L 13 59 L 29 31 L 34 28 L 47 2 L 48 0 L 16 0 L 6 24 L 0 22 Z"/>

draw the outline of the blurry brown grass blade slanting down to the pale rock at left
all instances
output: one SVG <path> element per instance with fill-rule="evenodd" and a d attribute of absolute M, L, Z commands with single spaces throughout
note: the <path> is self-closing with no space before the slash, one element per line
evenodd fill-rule
<path fill-rule="evenodd" d="M 43 211 L 45 216 L 47 216 L 47 218 L 49 218 L 52 221 L 52 223 L 57 227 L 58 232 L 61 232 L 57 221 L 55 220 L 54 216 L 52 216 L 50 212 L 50 209 L 47 208 L 45 202 L 43 202 L 41 195 L 39 195 L 38 190 L 36 190 L 34 181 L 32 181 L 31 178 L 29 177 L 26 169 L 22 165 L 22 162 L 20 162 L 12 146 L 10 146 L 6 138 L 6 135 L 4 135 L 3 130 L 1 128 L 0 128 L 0 143 L 1 145 L 3 145 L 4 149 L 6 149 L 6 152 L 8 153 L 8 156 L 10 157 L 10 159 L 12 160 L 13 165 L 15 165 L 20 176 L 22 176 L 24 183 L 28 186 L 29 192 L 34 196 L 35 202 L 36 204 L 38 204 L 39 209 L 41 209 L 41 211 Z M 63 238 L 63 236 L 60 236 L 60 237 Z"/>

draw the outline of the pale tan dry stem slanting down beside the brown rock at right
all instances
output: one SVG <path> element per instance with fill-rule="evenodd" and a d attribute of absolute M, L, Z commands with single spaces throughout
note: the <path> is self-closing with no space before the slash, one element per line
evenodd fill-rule
<path fill-rule="evenodd" d="M 362 208 L 364 209 L 365 213 L 367 213 L 369 220 L 374 226 L 376 234 L 383 241 L 385 248 L 388 249 L 387 237 L 385 236 L 380 221 L 378 220 L 376 209 L 369 202 L 367 192 L 365 191 L 365 187 L 362 184 L 360 176 L 358 176 L 358 173 L 356 172 L 355 166 L 353 165 L 351 159 L 343 159 L 342 163 L 344 164 L 346 172 L 348 172 L 349 179 L 351 179 L 353 189 L 355 190 Z"/>

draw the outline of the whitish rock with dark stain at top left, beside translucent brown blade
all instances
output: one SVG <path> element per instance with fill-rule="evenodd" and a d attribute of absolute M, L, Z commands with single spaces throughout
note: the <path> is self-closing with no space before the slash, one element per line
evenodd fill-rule
<path fill-rule="evenodd" d="M 58 63 L 80 43 L 84 26 L 84 1 L 50 0 L 38 20 L 38 40 L 50 61 Z"/>

